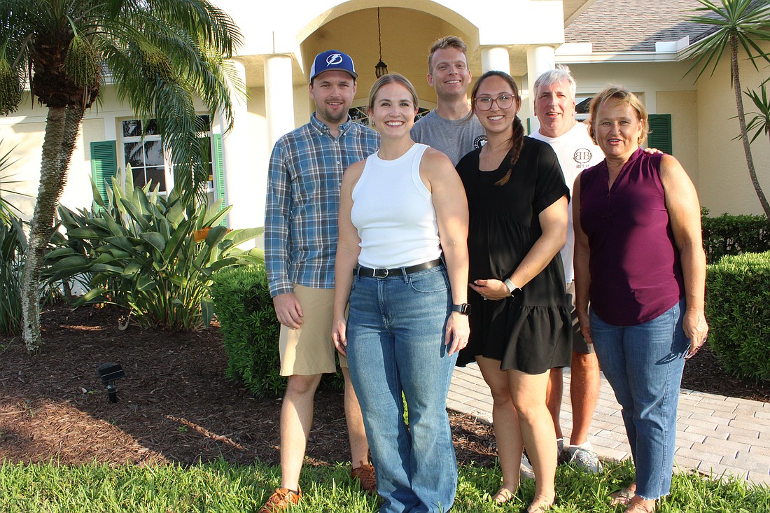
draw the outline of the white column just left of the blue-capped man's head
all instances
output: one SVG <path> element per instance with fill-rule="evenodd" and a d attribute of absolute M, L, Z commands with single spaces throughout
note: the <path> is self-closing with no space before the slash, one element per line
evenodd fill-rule
<path fill-rule="evenodd" d="M 265 61 L 265 115 L 267 143 L 294 129 L 294 85 L 290 55 L 270 55 Z"/>

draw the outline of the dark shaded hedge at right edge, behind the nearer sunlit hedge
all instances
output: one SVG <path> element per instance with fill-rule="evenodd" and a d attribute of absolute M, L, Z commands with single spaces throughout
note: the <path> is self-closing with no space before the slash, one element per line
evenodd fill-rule
<path fill-rule="evenodd" d="M 703 248 L 706 261 L 716 263 L 725 255 L 770 251 L 770 223 L 765 216 L 708 217 L 701 209 Z"/>

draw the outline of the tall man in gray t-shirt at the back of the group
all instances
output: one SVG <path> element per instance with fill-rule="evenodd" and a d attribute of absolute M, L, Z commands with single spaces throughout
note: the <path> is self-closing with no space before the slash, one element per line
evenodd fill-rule
<path fill-rule="evenodd" d="M 487 142 L 484 127 L 470 112 L 467 46 L 454 35 L 430 46 L 428 84 L 436 89 L 436 109 L 417 121 L 412 139 L 446 153 L 454 165 Z M 469 117 L 470 116 L 470 117 Z"/>

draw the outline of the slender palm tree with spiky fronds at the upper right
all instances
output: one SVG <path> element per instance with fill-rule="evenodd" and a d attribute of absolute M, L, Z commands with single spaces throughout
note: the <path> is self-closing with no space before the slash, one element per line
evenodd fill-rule
<path fill-rule="evenodd" d="M 758 59 L 770 62 L 770 55 L 763 52 L 759 46 L 759 42 L 770 41 L 770 19 L 768 19 L 770 2 L 768 0 L 721 0 L 721 5 L 711 0 L 698 0 L 698 2 L 701 2 L 703 7 L 695 10 L 705 11 L 707 14 L 691 16 L 689 21 L 707 25 L 709 30 L 704 38 L 699 39 L 688 50 L 688 55 L 695 58 L 688 73 L 700 67 L 701 71 L 695 78 L 697 81 L 711 65 L 711 75 L 713 75 L 725 52 L 729 52 L 732 89 L 735 91 L 735 106 L 738 107 L 738 123 L 741 126 L 740 135 L 748 164 L 748 175 L 751 176 L 759 203 L 762 203 L 762 210 L 765 210 L 765 215 L 770 220 L 770 203 L 762 192 L 762 186 L 759 185 L 754 159 L 752 159 L 751 142 L 746 131 L 746 116 L 738 69 L 739 47 L 744 49 L 755 69 L 758 69 Z"/>

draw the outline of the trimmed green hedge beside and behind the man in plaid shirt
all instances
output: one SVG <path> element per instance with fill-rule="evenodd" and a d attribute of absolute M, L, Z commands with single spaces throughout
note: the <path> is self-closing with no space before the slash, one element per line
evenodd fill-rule
<path fill-rule="evenodd" d="M 213 282 L 214 311 L 228 356 L 227 376 L 241 381 L 257 397 L 282 395 L 286 377 L 279 374 L 280 324 L 264 265 L 229 267 L 215 273 Z M 341 388 L 343 377 L 337 371 L 325 375 L 323 382 Z"/>

